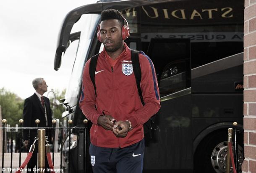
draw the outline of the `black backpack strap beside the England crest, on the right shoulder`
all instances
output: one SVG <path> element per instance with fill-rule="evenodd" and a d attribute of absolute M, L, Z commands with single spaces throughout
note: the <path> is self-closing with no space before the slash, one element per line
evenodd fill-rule
<path fill-rule="evenodd" d="M 139 51 L 135 51 L 133 49 L 131 49 L 131 61 L 133 64 L 133 72 L 134 72 L 134 76 L 136 79 L 136 84 L 137 84 L 137 88 L 138 88 L 138 95 L 141 98 L 141 103 L 144 106 L 144 100 L 142 97 L 142 91 L 141 91 L 141 66 L 140 66 L 140 61 L 138 59 L 138 53 Z"/>

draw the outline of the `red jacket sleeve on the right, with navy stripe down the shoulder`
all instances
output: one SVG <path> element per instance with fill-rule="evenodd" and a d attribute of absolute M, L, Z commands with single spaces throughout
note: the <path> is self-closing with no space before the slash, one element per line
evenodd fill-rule
<path fill-rule="evenodd" d="M 160 109 L 159 88 L 154 65 L 144 52 L 141 53 L 139 54 L 141 66 L 141 91 L 145 105 L 138 109 L 128 119 L 133 128 L 137 125 L 144 125 L 144 123 Z"/>

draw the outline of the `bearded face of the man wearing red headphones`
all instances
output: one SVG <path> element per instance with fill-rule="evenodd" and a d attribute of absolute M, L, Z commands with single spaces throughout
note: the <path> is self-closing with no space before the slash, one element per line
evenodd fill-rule
<path fill-rule="evenodd" d="M 122 48 L 122 29 L 117 19 L 104 20 L 100 23 L 100 38 L 107 52 Z"/>

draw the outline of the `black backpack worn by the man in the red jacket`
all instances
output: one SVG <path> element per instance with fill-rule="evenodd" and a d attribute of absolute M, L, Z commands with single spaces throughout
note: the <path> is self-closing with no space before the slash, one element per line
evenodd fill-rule
<path fill-rule="evenodd" d="M 138 59 L 138 54 L 139 51 L 135 51 L 133 49 L 131 49 L 131 61 L 132 61 L 132 65 L 133 65 L 133 72 L 134 72 L 134 76 L 136 79 L 136 84 L 137 84 L 137 88 L 138 88 L 138 95 L 141 98 L 141 103 L 144 106 L 144 100 L 142 97 L 142 91 L 141 91 L 141 66 L 140 66 L 140 62 Z M 97 97 L 97 92 L 96 92 L 96 86 L 95 86 L 95 70 L 96 70 L 96 66 L 97 66 L 97 60 L 99 57 L 99 53 L 97 55 L 94 55 L 91 57 L 91 62 L 90 62 L 90 66 L 89 66 L 89 73 L 90 73 L 90 78 L 92 81 L 92 84 L 94 86 L 94 92 L 95 92 L 95 96 Z M 154 121 L 153 121 L 154 119 Z M 155 115 L 153 117 L 151 117 L 145 124 L 144 124 L 144 135 L 148 136 L 150 138 L 152 138 L 152 134 L 153 134 L 153 130 L 157 129 L 157 125 L 155 122 Z M 153 129 L 153 126 L 156 127 Z"/>

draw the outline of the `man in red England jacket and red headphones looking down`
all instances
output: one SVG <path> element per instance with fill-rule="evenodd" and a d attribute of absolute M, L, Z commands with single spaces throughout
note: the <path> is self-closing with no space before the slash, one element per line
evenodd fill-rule
<path fill-rule="evenodd" d="M 152 61 L 142 51 L 141 91 L 138 94 L 131 50 L 124 40 L 128 23 L 118 10 L 103 10 L 98 39 L 104 44 L 95 71 L 95 86 L 89 74 L 91 59 L 83 73 L 80 107 L 93 125 L 90 130 L 91 165 L 94 173 L 142 173 L 143 125 L 160 109 L 159 89 Z"/>

